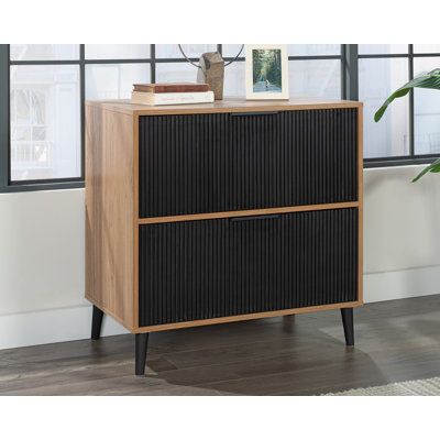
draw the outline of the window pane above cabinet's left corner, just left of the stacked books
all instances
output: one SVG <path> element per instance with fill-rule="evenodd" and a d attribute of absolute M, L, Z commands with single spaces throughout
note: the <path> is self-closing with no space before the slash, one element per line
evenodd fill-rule
<path fill-rule="evenodd" d="M 150 82 L 150 63 L 86 65 L 86 99 L 129 99 L 135 82 Z"/>

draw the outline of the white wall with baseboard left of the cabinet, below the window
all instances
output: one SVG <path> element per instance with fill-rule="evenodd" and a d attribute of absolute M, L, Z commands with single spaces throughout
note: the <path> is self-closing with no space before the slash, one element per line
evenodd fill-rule
<path fill-rule="evenodd" d="M 84 189 L 0 195 L 0 349 L 89 337 L 84 216 Z"/>

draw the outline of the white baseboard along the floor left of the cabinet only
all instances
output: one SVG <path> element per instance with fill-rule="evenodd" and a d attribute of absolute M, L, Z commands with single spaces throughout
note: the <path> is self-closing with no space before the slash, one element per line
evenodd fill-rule
<path fill-rule="evenodd" d="M 76 341 L 90 338 L 91 307 L 68 307 L 0 316 L 0 350 L 16 346 Z M 102 336 L 128 331 L 112 318 L 105 317 Z"/>

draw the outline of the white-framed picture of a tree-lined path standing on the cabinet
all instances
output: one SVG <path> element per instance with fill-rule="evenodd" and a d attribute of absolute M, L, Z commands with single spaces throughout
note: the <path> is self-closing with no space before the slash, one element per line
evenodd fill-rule
<path fill-rule="evenodd" d="M 246 99 L 288 99 L 287 46 L 246 45 Z"/>

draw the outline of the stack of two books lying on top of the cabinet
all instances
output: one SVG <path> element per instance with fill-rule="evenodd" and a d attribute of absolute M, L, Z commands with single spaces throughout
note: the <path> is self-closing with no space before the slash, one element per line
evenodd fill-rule
<path fill-rule="evenodd" d="M 145 106 L 213 102 L 213 91 L 199 82 L 134 84 L 131 101 Z"/>

